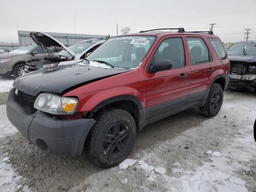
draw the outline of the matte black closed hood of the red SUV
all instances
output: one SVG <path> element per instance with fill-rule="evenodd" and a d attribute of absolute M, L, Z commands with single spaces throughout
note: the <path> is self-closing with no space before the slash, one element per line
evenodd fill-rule
<path fill-rule="evenodd" d="M 62 93 L 92 80 L 127 72 L 129 69 L 100 68 L 73 64 L 48 70 L 39 70 L 16 78 L 13 86 L 36 96 L 40 92 Z"/>

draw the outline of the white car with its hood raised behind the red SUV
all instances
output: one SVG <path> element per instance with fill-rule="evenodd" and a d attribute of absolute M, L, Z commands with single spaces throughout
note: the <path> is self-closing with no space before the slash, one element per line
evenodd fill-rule
<path fill-rule="evenodd" d="M 48 53 L 51 52 L 51 49 L 55 49 L 54 45 L 58 45 L 59 47 L 63 46 L 63 49 L 60 52 L 53 52 L 54 54 L 49 54 L 48 57 L 44 58 L 44 60 L 37 59 L 28 61 L 25 65 L 26 73 L 44 68 L 52 68 L 60 65 L 80 62 L 86 57 L 86 55 L 93 52 L 104 42 L 97 39 L 84 40 L 69 46 L 68 51 L 66 46 L 60 45 L 58 40 L 43 32 L 31 32 L 30 36 L 34 42 L 46 49 Z"/>

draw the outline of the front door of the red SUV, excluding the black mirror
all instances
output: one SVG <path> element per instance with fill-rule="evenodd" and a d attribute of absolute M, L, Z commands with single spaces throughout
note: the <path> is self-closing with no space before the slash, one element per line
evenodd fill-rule
<path fill-rule="evenodd" d="M 184 38 L 172 35 L 162 38 L 145 66 L 147 118 L 184 106 L 188 100 L 190 68 Z M 171 60 L 170 70 L 149 73 L 157 60 Z"/>

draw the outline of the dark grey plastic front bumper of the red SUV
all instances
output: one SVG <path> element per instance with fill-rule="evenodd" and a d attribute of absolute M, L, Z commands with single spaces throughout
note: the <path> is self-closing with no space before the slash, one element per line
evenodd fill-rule
<path fill-rule="evenodd" d="M 37 110 L 29 114 L 15 98 L 15 88 L 10 90 L 6 114 L 10 122 L 44 152 L 65 156 L 82 154 L 84 142 L 94 119 L 56 120 Z"/>

